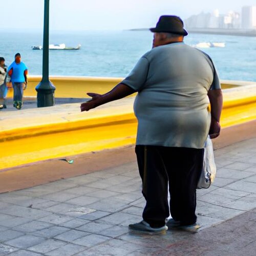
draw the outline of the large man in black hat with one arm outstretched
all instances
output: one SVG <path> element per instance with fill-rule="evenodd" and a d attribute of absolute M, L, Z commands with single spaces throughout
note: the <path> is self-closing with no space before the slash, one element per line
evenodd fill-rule
<path fill-rule="evenodd" d="M 110 92 L 88 93 L 92 99 L 80 109 L 89 111 L 138 92 L 135 152 L 146 205 L 143 220 L 129 227 L 150 234 L 173 226 L 194 232 L 199 228 L 196 188 L 204 143 L 208 134 L 220 134 L 220 81 L 211 58 L 184 43 L 188 33 L 180 17 L 161 16 L 150 30 L 153 49 Z M 169 212 L 172 219 L 167 221 Z"/>

